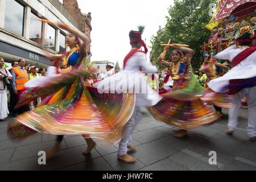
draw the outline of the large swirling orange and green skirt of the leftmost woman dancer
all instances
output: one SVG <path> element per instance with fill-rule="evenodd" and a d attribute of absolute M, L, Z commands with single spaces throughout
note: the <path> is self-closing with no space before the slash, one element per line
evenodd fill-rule
<path fill-rule="evenodd" d="M 20 95 L 19 105 L 36 97 L 46 97 L 47 104 L 21 114 L 9 126 L 13 138 L 24 138 L 35 131 L 52 135 L 90 135 L 118 142 L 122 128 L 135 107 L 135 94 L 99 94 L 86 86 L 82 72 L 67 73 Z"/>

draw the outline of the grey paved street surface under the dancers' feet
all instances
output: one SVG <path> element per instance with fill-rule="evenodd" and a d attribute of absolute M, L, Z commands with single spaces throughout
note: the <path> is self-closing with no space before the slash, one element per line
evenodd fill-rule
<path fill-rule="evenodd" d="M 155 121 L 142 109 L 143 118 L 132 135 L 137 151 L 129 153 L 137 162 L 126 164 L 117 160 L 118 144 L 96 139 L 97 146 L 90 155 L 80 136 L 65 136 L 61 151 L 38 164 L 38 152 L 47 151 L 55 136 L 35 134 L 22 141 L 13 141 L 7 134 L 8 123 L 0 122 L 0 170 L 101 170 L 101 171 L 180 171 L 180 170 L 256 170 L 256 142 L 246 134 L 247 109 L 240 109 L 238 129 L 232 136 L 226 134 L 228 110 L 213 125 L 189 130 L 187 138 L 175 138 L 174 128 Z M 209 152 L 215 151 L 217 164 L 209 164 Z"/>

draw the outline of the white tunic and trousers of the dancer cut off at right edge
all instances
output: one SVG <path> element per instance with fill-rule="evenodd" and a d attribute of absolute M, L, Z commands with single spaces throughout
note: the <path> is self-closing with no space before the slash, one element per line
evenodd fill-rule
<path fill-rule="evenodd" d="M 243 39 L 244 40 L 244 39 Z M 229 60 L 230 62 L 241 55 L 241 52 L 249 46 L 237 47 L 236 45 L 231 46 L 224 51 L 218 53 L 215 57 L 217 59 Z M 230 84 L 230 80 L 243 80 L 248 78 L 256 77 L 256 52 L 251 53 L 245 59 L 243 59 L 239 64 L 234 66 L 228 73 L 224 76 L 211 80 L 208 83 L 210 89 L 214 92 L 226 92 L 224 88 Z M 249 135 L 249 140 L 256 139 L 256 86 L 250 86 L 243 88 L 240 92 L 232 94 L 232 107 L 229 110 L 229 121 L 228 121 L 228 134 L 232 134 L 236 130 L 238 125 L 238 109 L 241 106 L 241 99 L 246 97 L 248 104 L 248 126 L 247 134 Z"/>

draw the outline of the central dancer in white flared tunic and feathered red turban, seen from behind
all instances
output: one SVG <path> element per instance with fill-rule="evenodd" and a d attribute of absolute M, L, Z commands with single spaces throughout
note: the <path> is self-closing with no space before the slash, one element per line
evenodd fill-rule
<path fill-rule="evenodd" d="M 123 130 L 124 135 L 119 143 L 117 153 L 118 159 L 126 163 L 136 161 L 136 158 L 127 154 L 127 148 L 135 150 L 135 146 L 131 146 L 130 142 L 131 134 L 139 119 L 141 119 L 140 107 L 153 106 L 162 99 L 158 92 L 150 88 L 150 85 L 146 82 L 144 73 L 141 73 L 142 69 L 146 73 L 157 72 L 157 68 L 146 61 L 147 47 L 141 38 L 143 29 L 144 27 L 139 27 L 139 31 L 130 31 L 131 51 L 123 61 L 123 70 L 94 84 L 102 92 L 135 93 L 135 109 Z M 144 47 L 144 51 L 139 51 L 141 47 Z"/>

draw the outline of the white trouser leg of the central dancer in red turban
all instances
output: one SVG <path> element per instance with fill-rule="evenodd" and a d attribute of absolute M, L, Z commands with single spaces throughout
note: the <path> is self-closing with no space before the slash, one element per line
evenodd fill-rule
<path fill-rule="evenodd" d="M 133 115 L 131 115 L 131 118 L 126 123 L 125 126 L 125 134 L 123 135 L 123 138 L 121 139 L 119 143 L 119 149 L 117 152 L 118 156 L 125 155 L 127 153 L 127 145 L 131 142 L 131 134 L 133 133 L 133 130 L 135 129 L 135 126 L 141 119 L 141 109 L 138 106 L 135 106 Z"/>

